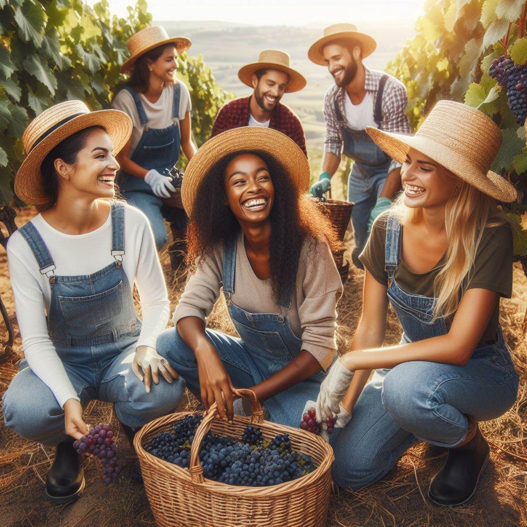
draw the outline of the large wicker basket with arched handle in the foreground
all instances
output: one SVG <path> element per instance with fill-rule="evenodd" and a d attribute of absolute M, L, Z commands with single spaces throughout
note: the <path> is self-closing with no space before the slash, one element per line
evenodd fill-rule
<path fill-rule="evenodd" d="M 325 524 L 331 487 L 330 466 L 333 450 L 321 437 L 289 426 L 264 421 L 261 405 L 253 392 L 252 417 L 235 416 L 232 423 L 216 418 L 216 404 L 196 431 L 190 454 L 190 469 L 163 461 L 144 450 L 155 435 L 167 432 L 190 412 L 155 419 L 135 435 L 150 508 L 160 527 L 311 527 Z M 315 471 L 297 480 L 267 487 L 233 486 L 204 479 L 199 448 L 212 430 L 223 435 L 241 436 L 248 424 L 260 428 L 266 439 L 288 433 L 291 446 L 311 456 Z"/>

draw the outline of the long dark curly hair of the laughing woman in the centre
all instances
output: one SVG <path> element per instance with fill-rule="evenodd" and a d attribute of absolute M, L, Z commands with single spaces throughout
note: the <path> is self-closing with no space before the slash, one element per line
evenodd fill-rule
<path fill-rule="evenodd" d="M 275 188 L 269 214 L 271 221 L 270 278 L 275 298 L 283 297 L 296 281 L 300 251 L 305 241 L 322 241 L 332 251 L 341 248 L 335 228 L 316 202 L 296 187 L 283 167 L 270 154 L 258 150 L 233 152 L 215 163 L 203 178 L 187 228 L 189 264 L 204 259 L 218 243 L 239 235 L 240 224 L 225 204 L 225 170 L 240 154 L 253 154 L 264 160 Z M 311 243 L 311 248 L 315 243 Z"/>

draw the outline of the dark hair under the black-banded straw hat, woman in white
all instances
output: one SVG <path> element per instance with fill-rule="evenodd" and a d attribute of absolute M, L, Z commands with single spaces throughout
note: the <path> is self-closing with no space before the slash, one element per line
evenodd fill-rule
<path fill-rule="evenodd" d="M 46 155 L 40 165 L 40 173 L 42 174 L 43 187 L 48 201 L 37 207 L 39 212 L 53 207 L 57 202 L 58 177 L 54 167 L 55 160 L 62 159 L 67 164 L 76 163 L 77 155 L 86 146 L 88 136 L 96 129 L 106 131 L 104 126 L 90 126 L 90 128 L 84 128 L 58 143 L 53 150 Z"/>

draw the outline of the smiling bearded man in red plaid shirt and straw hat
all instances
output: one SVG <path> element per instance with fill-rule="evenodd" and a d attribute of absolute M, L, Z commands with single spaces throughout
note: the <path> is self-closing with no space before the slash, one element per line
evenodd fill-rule
<path fill-rule="evenodd" d="M 278 50 L 262 51 L 257 62 L 240 69 L 238 77 L 254 90 L 249 97 L 239 97 L 222 107 L 216 115 L 212 137 L 241 126 L 266 126 L 289 136 L 307 156 L 302 123 L 295 112 L 280 102 L 284 93 L 297 92 L 306 85 L 306 79 L 289 67 L 289 55 Z"/>

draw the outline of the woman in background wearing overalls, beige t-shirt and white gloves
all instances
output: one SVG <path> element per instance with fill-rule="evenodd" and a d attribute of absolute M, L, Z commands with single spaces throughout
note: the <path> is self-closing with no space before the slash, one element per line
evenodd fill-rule
<path fill-rule="evenodd" d="M 188 160 L 196 152 L 191 138 L 189 90 L 175 77 L 178 53 L 190 44 L 188 38 L 169 37 L 161 26 L 133 35 L 128 41 L 130 57 L 121 66 L 130 80 L 112 103 L 133 123 L 130 140 L 119 154 L 120 191 L 128 203 L 147 215 L 158 249 L 167 241 L 163 217 L 167 218 L 175 244 L 172 252 L 180 255 L 187 216 L 177 199 L 171 204 L 163 204 L 163 200 L 176 197 L 166 172 L 178 162 L 180 149 Z"/>

